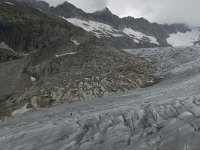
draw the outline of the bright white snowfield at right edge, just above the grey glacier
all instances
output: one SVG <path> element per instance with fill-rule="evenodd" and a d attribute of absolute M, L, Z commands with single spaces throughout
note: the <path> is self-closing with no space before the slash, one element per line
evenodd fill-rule
<path fill-rule="evenodd" d="M 185 33 L 175 33 L 170 34 L 170 37 L 167 38 L 168 44 L 172 46 L 192 46 L 193 42 L 197 41 L 200 36 L 199 29 L 193 29 Z"/>

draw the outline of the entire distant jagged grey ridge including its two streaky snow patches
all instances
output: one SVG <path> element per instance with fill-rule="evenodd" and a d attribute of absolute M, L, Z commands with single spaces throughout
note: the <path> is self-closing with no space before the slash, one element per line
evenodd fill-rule
<path fill-rule="evenodd" d="M 32 0 L 31 5 L 46 13 L 65 18 L 117 48 L 165 47 L 173 44 L 167 41 L 170 34 L 191 31 L 184 24 L 161 25 L 150 23 L 144 18 L 119 18 L 108 8 L 94 13 L 85 13 L 68 2 L 49 7 L 46 2 L 36 3 Z"/>

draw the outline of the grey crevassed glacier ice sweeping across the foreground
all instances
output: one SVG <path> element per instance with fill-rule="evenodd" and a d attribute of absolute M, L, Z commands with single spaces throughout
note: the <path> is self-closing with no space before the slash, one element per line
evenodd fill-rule
<path fill-rule="evenodd" d="M 1 150 L 199 150 L 200 47 L 125 50 L 158 66 L 156 85 L 64 104 L 0 125 Z"/>

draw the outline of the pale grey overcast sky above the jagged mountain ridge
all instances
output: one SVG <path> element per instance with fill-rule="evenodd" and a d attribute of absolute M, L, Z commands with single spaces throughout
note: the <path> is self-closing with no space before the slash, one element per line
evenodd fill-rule
<path fill-rule="evenodd" d="M 45 0 L 51 5 L 66 0 Z M 108 7 L 114 14 L 124 17 L 144 17 L 158 23 L 187 23 L 200 26 L 200 0 L 68 0 L 86 12 Z"/>

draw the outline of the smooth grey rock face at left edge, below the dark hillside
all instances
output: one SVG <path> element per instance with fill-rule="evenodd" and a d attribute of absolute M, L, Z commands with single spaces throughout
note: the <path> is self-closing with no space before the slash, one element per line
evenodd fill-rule
<path fill-rule="evenodd" d="M 23 58 L 0 63 L 0 101 L 30 86 L 30 76 L 24 72 L 27 62 L 28 59 Z"/>

